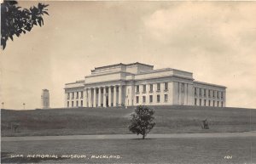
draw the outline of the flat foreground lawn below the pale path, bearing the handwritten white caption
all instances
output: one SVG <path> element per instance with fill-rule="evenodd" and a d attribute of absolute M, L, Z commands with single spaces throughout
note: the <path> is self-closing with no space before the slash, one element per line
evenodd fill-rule
<path fill-rule="evenodd" d="M 2 163 L 256 163 L 256 138 L 84 139 L 2 142 Z M 56 155 L 27 158 L 27 155 Z M 24 157 L 10 158 L 11 155 Z M 61 158 L 79 155 L 86 158 Z M 119 156 L 96 159 L 93 156 Z M 232 156 L 231 159 L 226 159 Z"/>

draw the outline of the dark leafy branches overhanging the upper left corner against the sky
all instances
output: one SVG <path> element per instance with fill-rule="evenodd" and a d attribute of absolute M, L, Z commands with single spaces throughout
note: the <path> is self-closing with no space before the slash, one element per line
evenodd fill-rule
<path fill-rule="evenodd" d="M 10 38 L 14 40 L 14 35 L 31 31 L 33 25 L 44 25 L 43 15 L 47 13 L 48 4 L 38 3 L 38 7 L 20 8 L 17 1 L 4 0 L 1 4 L 1 48 L 6 47 L 6 42 Z M 49 15 L 49 14 L 48 14 Z"/>

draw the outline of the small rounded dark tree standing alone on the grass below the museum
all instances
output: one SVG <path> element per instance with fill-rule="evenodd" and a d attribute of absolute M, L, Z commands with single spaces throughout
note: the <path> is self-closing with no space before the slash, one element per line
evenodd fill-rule
<path fill-rule="evenodd" d="M 131 113 L 129 130 L 132 133 L 137 133 L 137 135 L 142 134 L 143 139 L 145 139 L 147 133 L 155 126 L 153 115 L 154 110 L 148 108 L 148 106 L 137 106 L 135 112 Z"/>

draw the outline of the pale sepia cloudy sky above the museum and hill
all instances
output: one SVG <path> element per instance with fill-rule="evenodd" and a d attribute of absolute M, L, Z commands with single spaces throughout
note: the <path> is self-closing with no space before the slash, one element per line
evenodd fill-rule
<path fill-rule="evenodd" d="M 44 88 L 50 107 L 63 107 L 65 83 L 132 62 L 193 72 L 196 81 L 226 86 L 227 106 L 256 107 L 255 2 L 43 3 L 44 26 L 1 50 L 5 109 L 40 108 Z"/>

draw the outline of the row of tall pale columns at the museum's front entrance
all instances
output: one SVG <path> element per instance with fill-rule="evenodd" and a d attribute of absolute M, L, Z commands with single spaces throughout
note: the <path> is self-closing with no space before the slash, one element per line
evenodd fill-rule
<path fill-rule="evenodd" d="M 87 103 L 85 105 L 87 107 L 121 106 L 122 88 L 122 85 L 86 88 Z"/>

